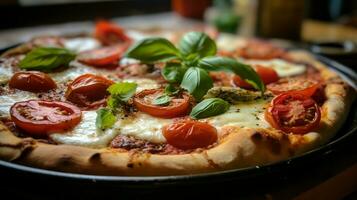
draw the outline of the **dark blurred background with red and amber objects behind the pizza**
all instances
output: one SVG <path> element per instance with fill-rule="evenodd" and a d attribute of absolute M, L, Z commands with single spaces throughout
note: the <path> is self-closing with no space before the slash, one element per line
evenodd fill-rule
<path fill-rule="evenodd" d="M 100 18 L 131 27 L 210 24 L 221 32 L 295 41 L 357 68 L 355 0 L 1 0 L 0 48 L 43 30 L 38 27 L 87 31 L 85 22 Z"/>

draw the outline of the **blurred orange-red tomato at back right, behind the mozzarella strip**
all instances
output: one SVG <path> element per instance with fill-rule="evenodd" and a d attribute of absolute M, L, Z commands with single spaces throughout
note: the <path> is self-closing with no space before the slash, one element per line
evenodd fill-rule
<path fill-rule="evenodd" d="M 286 52 L 269 42 L 252 40 L 244 48 L 238 49 L 238 55 L 246 59 L 269 60 L 273 58 L 286 58 Z"/>

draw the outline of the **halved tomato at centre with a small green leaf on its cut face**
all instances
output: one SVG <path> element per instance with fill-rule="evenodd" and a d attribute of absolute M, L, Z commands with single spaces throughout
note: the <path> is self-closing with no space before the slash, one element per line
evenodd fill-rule
<path fill-rule="evenodd" d="M 143 90 L 134 96 L 134 105 L 141 112 L 161 118 L 184 116 L 190 109 L 190 97 L 183 93 L 181 97 L 172 97 L 168 105 L 154 105 L 153 100 L 163 94 L 162 89 Z"/>

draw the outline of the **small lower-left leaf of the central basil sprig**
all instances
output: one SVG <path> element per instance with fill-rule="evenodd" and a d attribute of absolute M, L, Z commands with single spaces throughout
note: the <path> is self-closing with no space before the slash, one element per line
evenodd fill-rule
<path fill-rule="evenodd" d="M 185 72 L 186 68 L 180 63 L 166 63 L 161 74 L 169 83 L 180 83 Z"/>

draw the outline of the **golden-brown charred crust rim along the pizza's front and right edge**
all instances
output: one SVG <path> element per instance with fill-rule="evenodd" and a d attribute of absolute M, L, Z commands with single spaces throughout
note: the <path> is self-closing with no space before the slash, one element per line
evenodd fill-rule
<path fill-rule="evenodd" d="M 288 135 L 274 129 L 224 127 L 214 147 L 190 154 L 158 155 L 118 149 L 91 149 L 51 145 L 14 136 L 0 124 L 0 158 L 38 168 L 97 175 L 179 175 L 263 165 L 301 154 L 326 143 L 348 114 L 355 91 L 336 73 L 305 52 L 292 52 L 295 60 L 310 62 L 326 80 L 327 100 L 321 126 L 305 135 Z"/>

